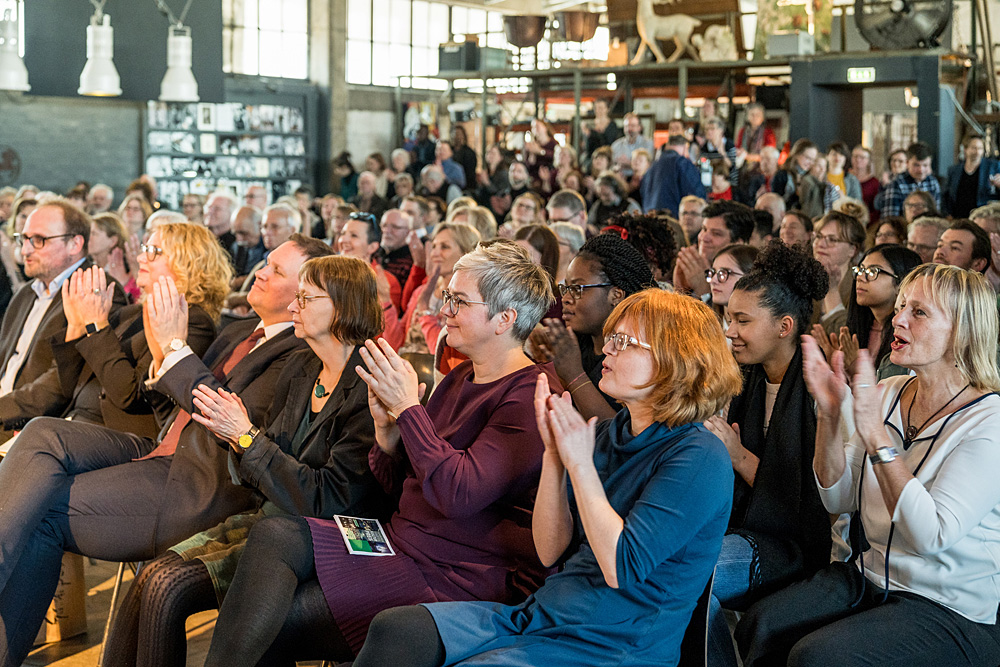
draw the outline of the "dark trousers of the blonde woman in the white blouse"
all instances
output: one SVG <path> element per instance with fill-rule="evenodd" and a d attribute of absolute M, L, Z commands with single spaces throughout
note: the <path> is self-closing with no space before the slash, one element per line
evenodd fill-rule
<path fill-rule="evenodd" d="M 1000 626 L 921 595 L 890 591 L 879 604 L 882 595 L 853 564 L 834 563 L 764 598 L 736 626 L 745 667 L 1000 664 Z"/>

